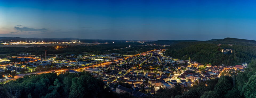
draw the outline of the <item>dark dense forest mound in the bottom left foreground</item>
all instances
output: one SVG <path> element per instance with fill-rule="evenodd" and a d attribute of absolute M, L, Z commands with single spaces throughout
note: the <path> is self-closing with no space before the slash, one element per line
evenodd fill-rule
<path fill-rule="evenodd" d="M 132 97 L 113 93 L 91 74 L 32 74 L 0 85 L 0 98 L 119 98 Z"/>

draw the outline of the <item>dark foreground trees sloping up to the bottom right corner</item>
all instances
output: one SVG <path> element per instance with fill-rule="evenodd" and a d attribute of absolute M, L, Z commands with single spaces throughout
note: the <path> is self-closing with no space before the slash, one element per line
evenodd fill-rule
<path fill-rule="evenodd" d="M 191 88 L 160 88 L 153 98 L 255 98 L 256 59 L 244 72 L 201 82 Z M 233 78 L 234 77 L 234 78 Z M 234 83 L 235 82 L 235 83 Z M 207 86 L 205 85 L 207 83 Z"/>

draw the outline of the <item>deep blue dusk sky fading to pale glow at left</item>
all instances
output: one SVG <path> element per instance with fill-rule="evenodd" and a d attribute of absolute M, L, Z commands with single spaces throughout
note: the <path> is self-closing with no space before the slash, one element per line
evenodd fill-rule
<path fill-rule="evenodd" d="M 255 5 L 247 0 L 0 0 L 0 36 L 256 40 Z"/>

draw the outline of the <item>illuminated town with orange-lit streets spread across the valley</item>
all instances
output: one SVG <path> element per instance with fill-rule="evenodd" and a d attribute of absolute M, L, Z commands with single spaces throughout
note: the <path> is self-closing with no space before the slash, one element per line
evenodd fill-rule
<path fill-rule="evenodd" d="M 113 92 L 133 92 L 132 96 L 143 97 L 154 94 L 159 88 L 174 86 L 193 87 L 221 75 L 244 71 L 247 63 L 236 66 L 214 66 L 193 60 L 179 60 L 166 57 L 166 50 L 151 50 L 136 55 L 121 54 L 79 54 L 37 57 L 2 58 L 1 82 L 14 80 L 25 75 L 42 73 L 89 72 L 101 79 Z M 123 86 L 121 86 L 123 85 Z M 205 84 L 207 86 L 207 83 Z"/>

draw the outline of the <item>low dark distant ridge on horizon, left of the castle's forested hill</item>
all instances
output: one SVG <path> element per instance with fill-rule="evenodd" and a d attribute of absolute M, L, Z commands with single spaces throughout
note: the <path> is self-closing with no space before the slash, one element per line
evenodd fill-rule
<path fill-rule="evenodd" d="M 196 41 L 196 40 L 158 40 L 158 41 L 154 41 L 154 42 L 145 42 L 145 43 L 148 43 L 148 44 L 177 44 L 177 43 L 180 43 L 180 42 L 199 42 L 199 41 Z"/>

